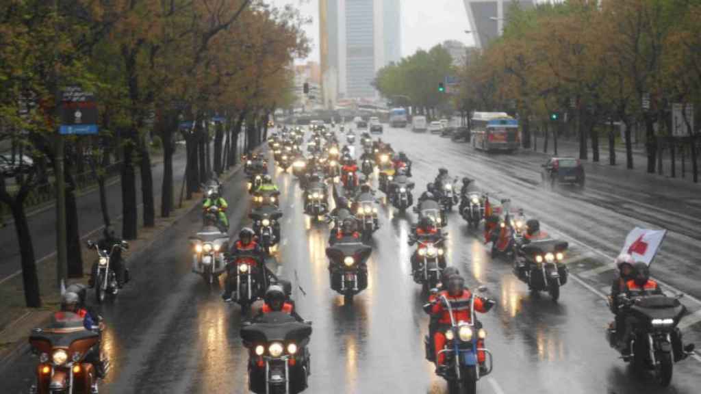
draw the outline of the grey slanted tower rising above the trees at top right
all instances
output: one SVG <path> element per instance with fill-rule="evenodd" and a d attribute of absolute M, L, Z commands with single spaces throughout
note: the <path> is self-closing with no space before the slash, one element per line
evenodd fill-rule
<path fill-rule="evenodd" d="M 535 0 L 463 0 L 472 27 L 477 48 L 485 48 L 489 41 L 501 36 L 504 22 L 509 19 L 512 6 L 531 8 Z"/>

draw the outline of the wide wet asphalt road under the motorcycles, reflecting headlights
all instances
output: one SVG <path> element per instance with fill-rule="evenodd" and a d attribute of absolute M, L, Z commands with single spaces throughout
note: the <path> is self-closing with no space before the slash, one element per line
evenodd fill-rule
<path fill-rule="evenodd" d="M 498 306 L 481 318 L 495 364 L 494 372 L 479 381 L 480 393 L 698 392 L 701 358 L 674 365 L 672 386 L 664 390 L 650 376 L 630 372 L 604 339 L 612 316 L 601 299 L 612 274 L 606 265 L 625 233 L 646 224 L 643 220 L 655 226 L 674 222 L 653 275 L 693 296 L 684 302 L 695 313 L 687 318 L 695 324 L 684 332 L 686 339 L 700 339 L 701 303 L 694 301 L 701 297 L 694 270 L 700 242 L 684 230 L 693 228 L 694 217 L 701 217 L 693 213 L 695 208 L 662 202 L 658 195 L 668 192 L 655 184 L 623 176 L 613 179 L 590 167 L 584 191 L 546 191 L 538 185 L 543 156 L 527 152 L 488 156 L 465 144 L 409 130 L 388 130 L 382 138 L 414 160 L 416 193 L 445 166 L 454 175 L 469 174 L 492 193 L 512 198 L 527 216 L 541 219 L 547 231 L 581 242 L 571 242 L 568 260 L 574 275 L 554 304 L 546 294 L 531 296 L 510 264 L 489 257 L 481 229 L 470 231 L 455 212 L 451 215 L 449 264 L 463 272 L 470 287 L 484 284 L 498 300 Z M 327 228 L 311 225 L 302 213 L 294 177 L 279 171 L 274 175 L 285 212 L 280 265 L 275 269 L 304 288 L 306 296 L 296 289 L 293 297 L 299 313 L 313 320 L 307 392 L 446 393 L 444 381 L 424 360 L 428 317 L 421 310 L 421 287 L 409 276 L 412 248 L 406 243 L 414 214 L 400 216 L 382 206 L 381 229 L 374 235 L 369 260 L 369 287 L 353 305 L 344 306 L 343 297 L 329 288 Z M 238 174 L 226 188 L 232 231 L 248 223 L 250 198 L 244 187 L 243 175 Z M 623 191 L 611 196 L 614 187 Z M 660 213 L 665 210 L 686 212 L 690 222 L 665 219 Z M 646 212 L 644 219 L 633 215 L 639 211 Z M 199 227 L 200 215 L 193 212 L 169 229 L 144 261 L 130 263 L 134 280 L 114 304 L 102 307 L 109 324 L 104 348 L 112 364 L 102 393 L 247 393 L 247 352 L 238 337 L 240 310 L 222 302 L 221 288 L 208 287 L 189 271 L 186 238 Z M 34 362 L 22 355 L 15 364 L 0 367 L 7 393 L 29 386 Z"/>

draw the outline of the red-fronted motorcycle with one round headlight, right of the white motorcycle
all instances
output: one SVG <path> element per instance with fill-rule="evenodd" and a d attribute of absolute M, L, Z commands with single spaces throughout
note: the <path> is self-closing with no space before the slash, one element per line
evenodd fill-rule
<path fill-rule="evenodd" d="M 232 299 L 241 306 L 241 313 L 247 315 L 251 305 L 261 297 L 268 288 L 267 283 L 259 283 L 261 270 L 265 270 L 265 261 L 261 261 L 254 254 L 240 253 L 231 261 L 229 267 L 229 280 L 234 294 Z M 263 276 L 266 278 L 266 276 Z"/>

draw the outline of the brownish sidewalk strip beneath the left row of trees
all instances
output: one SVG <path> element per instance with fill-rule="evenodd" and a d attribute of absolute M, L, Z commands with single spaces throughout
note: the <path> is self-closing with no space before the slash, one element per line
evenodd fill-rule
<path fill-rule="evenodd" d="M 238 164 L 229 172 L 225 172 L 222 181 L 226 182 L 231 179 L 241 168 L 240 164 Z M 130 241 L 129 251 L 125 254 L 127 265 L 132 266 L 142 261 L 139 256 L 146 252 L 149 246 L 156 242 L 165 230 L 197 208 L 201 202 L 201 196 L 200 193 L 196 193 L 191 200 L 183 201 L 182 208 L 173 210 L 171 217 L 157 217 L 156 226 L 151 229 L 139 226 L 139 238 Z M 160 206 L 157 206 L 156 210 L 158 211 L 159 209 Z M 90 271 L 90 266 L 95 259 L 94 254 L 93 250 L 88 250 L 86 247 L 83 248 L 83 269 L 85 272 Z M 48 264 L 42 264 L 41 267 L 37 266 L 39 285 L 42 290 L 41 299 L 43 306 L 41 308 L 25 307 L 21 276 L 8 280 L 0 287 L 0 299 L 3 300 L 3 303 L 0 305 L 0 364 L 10 361 L 22 351 L 28 351 L 27 334 L 34 327 L 45 324 L 46 320 L 57 310 L 60 304 L 60 293 L 55 285 L 55 257 L 51 260 L 47 261 Z M 87 284 L 87 282 L 87 276 L 79 280 L 70 281 L 70 283 L 84 284 Z"/>

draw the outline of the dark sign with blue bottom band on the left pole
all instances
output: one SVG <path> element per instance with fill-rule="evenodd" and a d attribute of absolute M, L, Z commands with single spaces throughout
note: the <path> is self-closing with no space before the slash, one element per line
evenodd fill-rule
<path fill-rule="evenodd" d="M 61 135 L 97 134 L 97 103 L 92 92 L 69 86 L 61 92 Z"/>

